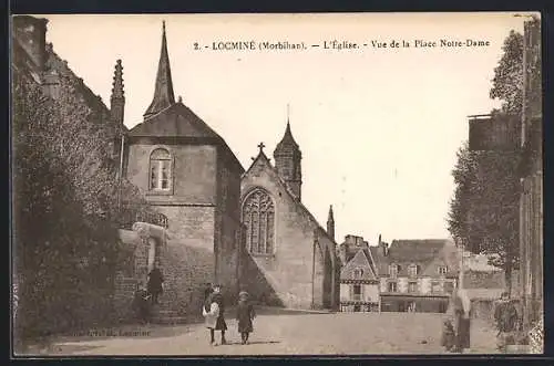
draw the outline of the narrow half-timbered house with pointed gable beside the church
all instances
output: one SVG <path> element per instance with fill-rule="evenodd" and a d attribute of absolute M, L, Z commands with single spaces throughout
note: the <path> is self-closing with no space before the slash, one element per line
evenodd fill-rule
<path fill-rule="evenodd" d="M 347 236 L 341 244 L 343 252 L 351 252 L 351 243 L 358 250 L 353 257 L 346 257 L 348 262 L 340 271 L 340 311 L 379 312 L 379 276 L 368 242 Z"/>

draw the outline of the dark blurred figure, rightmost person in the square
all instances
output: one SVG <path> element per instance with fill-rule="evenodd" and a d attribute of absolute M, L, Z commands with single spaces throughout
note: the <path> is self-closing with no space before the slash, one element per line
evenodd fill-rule
<path fill-rule="evenodd" d="M 496 323 L 496 346 L 501 353 L 506 353 L 510 344 L 515 344 L 515 333 L 517 331 L 517 309 L 507 292 L 500 296 L 494 310 L 494 321 Z"/>

